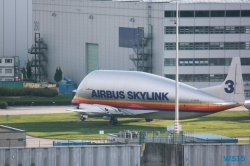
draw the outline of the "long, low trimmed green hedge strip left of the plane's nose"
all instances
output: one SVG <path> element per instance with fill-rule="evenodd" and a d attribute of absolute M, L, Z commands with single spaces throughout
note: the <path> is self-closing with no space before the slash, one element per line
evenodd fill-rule
<path fill-rule="evenodd" d="M 54 106 L 54 105 L 71 105 L 71 101 L 14 101 L 8 102 L 9 106 Z"/>

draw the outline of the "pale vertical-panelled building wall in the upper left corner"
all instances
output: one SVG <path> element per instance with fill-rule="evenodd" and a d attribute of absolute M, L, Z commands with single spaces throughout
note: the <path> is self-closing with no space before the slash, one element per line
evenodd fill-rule
<path fill-rule="evenodd" d="M 26 66 L 31 28 L 32 0 L 0 0 L 0 58 L 18 57 Z"/>

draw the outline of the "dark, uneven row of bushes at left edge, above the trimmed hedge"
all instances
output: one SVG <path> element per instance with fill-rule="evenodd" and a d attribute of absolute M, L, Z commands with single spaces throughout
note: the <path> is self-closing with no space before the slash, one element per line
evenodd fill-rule
<path fill-rule="evenodd" d="M 50 88 L 16 88 L 10 89 L 0 87 L 0 96 L 37 96 L 37 97 L 55 97 L 58 95 L 56 89 Z"/>

